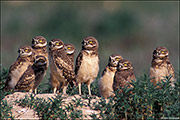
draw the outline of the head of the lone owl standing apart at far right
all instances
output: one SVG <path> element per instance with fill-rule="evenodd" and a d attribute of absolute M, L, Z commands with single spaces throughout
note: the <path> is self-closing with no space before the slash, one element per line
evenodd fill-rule
<path fill-rule="evenodd" d="M 165 58 L 169 56 L 169 51 L 166 47 L 159 46 L 153 52 L 154 58 Z"/>

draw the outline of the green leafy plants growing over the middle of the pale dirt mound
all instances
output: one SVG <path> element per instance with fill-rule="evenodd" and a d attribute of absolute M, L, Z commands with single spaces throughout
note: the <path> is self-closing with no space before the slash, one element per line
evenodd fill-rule
<path fill-rule="evenodd" d="M 55 98 L 49 98 L 48 100 L 35 98 L 34 95 L 30 95 L 30 97 L 25 96 L 24 99 L 20 99 L 16 102 L 20 106 L 34 109 L 41 119 L 81 118 L 82 111 L 75 109 L 77 106 L 81 106 L 81 100 L 76 99 L 73 103 L 65 107 L 63 99 L 61 95 L 57 95 Z"/>

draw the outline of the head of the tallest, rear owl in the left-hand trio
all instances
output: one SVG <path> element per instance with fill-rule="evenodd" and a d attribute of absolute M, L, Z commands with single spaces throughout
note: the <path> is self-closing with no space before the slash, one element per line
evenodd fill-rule
<path fill-rule="evenodd" d="M 32 38 L 32 47 L 33 48 L 42 48 L 46 47 L 47 41 L 43 36 L 36 36 Z"/>

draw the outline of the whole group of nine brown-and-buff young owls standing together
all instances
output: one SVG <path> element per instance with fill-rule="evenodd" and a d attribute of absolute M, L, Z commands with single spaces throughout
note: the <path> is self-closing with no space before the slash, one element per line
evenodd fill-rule
<path fill-rule="evenodd" d="M 62 93 L 66 94 L 70 84 L 78 85 L 81 95 L 81 84 L 85 83 L 91 95 L 90 85 L 99 72 L 98 48 L 96 38 L 92 36 L 84 38 L 74 65 L 75 47 L 72 44 L 52 39 L 49 42 L 48 54 L 47 40 L 43 36 L 36 36 L 32 38 L 31 46 L 23 45 L 19 48 L 19 56 L 10 66 L 5 90 L 34 91 L 37 94 L 37 87 L 50 66 L 50 83 L 54 93 L 62 89 Z M 151 81 L 157 84 L 168 75 L 172 76 L 171 85 L 174 86 L 174 69 L 169 61 L 169 52 L 165 47 L 157 47 L 153 52 L 150 68 Z M 135 79 L 131 62 L 119 54 L 112 54 L 99 79 L 99 92 L 105 98 L 114 96 L 114 91 L 119 87 L 132 87 L 130 82 Z"/>

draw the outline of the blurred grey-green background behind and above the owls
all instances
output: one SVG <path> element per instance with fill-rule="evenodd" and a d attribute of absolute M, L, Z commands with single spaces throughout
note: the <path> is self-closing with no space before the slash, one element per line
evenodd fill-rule
<path fill-rule="evenodd" d="M 34 36 L 72 43 L 76 57 L 82 39 L 91 35 L 100 45 L 100 75 L 113 53 L 131 61 L 136 76 L 148 73 L 157 46 L 169 49 L 179 69 L 178 2 L 2 2 L 1 10 L 6 68 L 17 58 L 18 47 L 30 45 Z"/>

